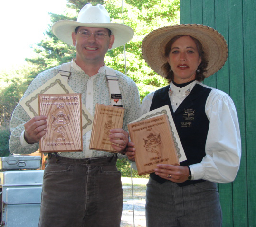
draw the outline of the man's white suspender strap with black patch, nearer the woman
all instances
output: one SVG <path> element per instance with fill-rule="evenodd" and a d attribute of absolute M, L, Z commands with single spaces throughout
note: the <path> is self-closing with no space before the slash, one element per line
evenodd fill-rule
<path fill-rule="evenodd" d="M 118 77 L 113 69 L 106 66 L 106 79 L 111 96 L 111 105 L 123 107 L 122 94 L 120 93 Z"/>

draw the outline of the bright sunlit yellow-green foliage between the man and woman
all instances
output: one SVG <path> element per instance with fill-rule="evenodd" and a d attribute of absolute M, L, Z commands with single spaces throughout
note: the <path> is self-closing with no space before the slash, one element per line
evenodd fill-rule
<path fill-rule="evenodd" d="M 133 39 L 126 44 L 126 62 L 124 62 L 123 46 L 106 54 L 105 62 L 115 70 L 125 73 L 137 84 L 141 101 L 150 92 L 166 85 L 166 80 L 157 75 L 143 60 L 141 45 L 143 38 L 153 29 L 179 23 L 179 0 L 128 0 L 122 4 L 120 0 L 106 0 L 104 6 L 108 10 L 111 21 L 131 26 Z"/>

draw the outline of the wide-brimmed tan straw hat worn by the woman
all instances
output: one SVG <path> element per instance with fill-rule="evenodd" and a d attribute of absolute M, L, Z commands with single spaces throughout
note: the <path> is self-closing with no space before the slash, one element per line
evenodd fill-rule
<path fill-rule="evenodd" d="M 166 44 L 177 35 L 190 35 L 198 39 L 208 60 L 205 77 L 220 70 L 228 58 L 228 45 L 224 37 L 211 27 L 198 24 L 182 24 L 158 28 L 142 41 L 142 55 L 157 74 L 165 77 L 161 67 L 167 62 L 164 57 Z"/>

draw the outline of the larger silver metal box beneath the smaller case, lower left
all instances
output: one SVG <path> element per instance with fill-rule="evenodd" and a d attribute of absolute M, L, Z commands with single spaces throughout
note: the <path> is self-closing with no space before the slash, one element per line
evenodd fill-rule
<path fill-rule="evenodd" d="M 38 227 L 44 170 L 0 172 L 0 227 Z"/>

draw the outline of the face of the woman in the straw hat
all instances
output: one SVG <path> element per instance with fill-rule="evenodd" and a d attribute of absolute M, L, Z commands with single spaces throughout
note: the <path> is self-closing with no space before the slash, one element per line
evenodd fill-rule
<path fill-rule="evenodd" d="M 167 61 L 173 71 L 174 82 L 182 84 L 196 79 L 201 57 L 194 40 L 190 36 L 182 36 L 171 45 Z"/>

